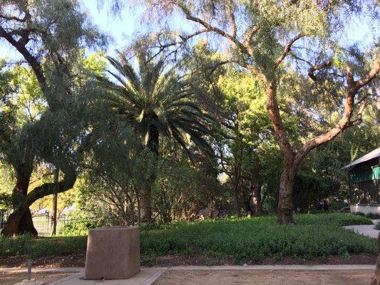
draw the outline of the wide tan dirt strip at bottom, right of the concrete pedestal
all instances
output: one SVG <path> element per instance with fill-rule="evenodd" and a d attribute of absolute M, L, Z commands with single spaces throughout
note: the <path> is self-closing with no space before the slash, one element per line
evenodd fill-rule
<path fill-rule="evenodd" d="M 368 285 L 373 271 L 167 271 L 153 285 Z"/>

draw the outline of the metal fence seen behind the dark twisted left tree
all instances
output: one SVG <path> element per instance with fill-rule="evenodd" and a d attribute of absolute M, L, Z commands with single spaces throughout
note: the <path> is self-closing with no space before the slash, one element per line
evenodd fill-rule
<path fill-rule="evenodd" d="M 0 229 L 4 228 L 6 222 L 7 213 L 0 210 Z M 32 217 L 34 227 L 38 232 L 40 237 L 50 237 L 51 235 L 51 216 L 48 214 L 38 214 Z M 73 221 L 72 218 L 66 217 L 65 214 L 61 214 L 57 217 L 57 229 L 56 232 L 59 233 L 63 227 L 68 224 L 68 222 Z"/>

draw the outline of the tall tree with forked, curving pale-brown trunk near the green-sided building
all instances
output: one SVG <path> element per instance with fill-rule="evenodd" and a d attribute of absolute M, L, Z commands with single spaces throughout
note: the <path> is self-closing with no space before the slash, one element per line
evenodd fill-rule
<path fill-rule="evenodd" d="M 183 17 L 192 24 L 191 32 L 189 26 L 182 33 L 173 32 L 179 35 L 176 41 L 164 43 L 158 38 L 163 50 L 178 48 L 206 33 L 212 34 L 215 36 L 212 42 L 230 47 L 230 57 L 222 63 L 235 63 L 265 83 L 267 112 L 283 159 L 277 222 L 294 222 L 292 190 L 299 163 L 315 147 L 361 123 L 371 82 L 380 71 L 378 35 L 371 37 L 372 43 L 361 49 L 355 48 L 354 43 L 343 43 L 342 38 L 347 38 L 344 31 L 349 32 L 351 27 L 347 19 L 358 19 L 355 18 L 358 14 L 370 14 L 371 22 L 375 26 L 379 23 L 376 3 L 310 0 L 146 0 L 143 3 L 150 8 L 150 15 L 159 15 L 156 19 L 169 23 L 169 27 L 175 17 Z M 168 16 L 168 21 L 162 21 L 162 15 Z M 149 19 L 152 23 L 155 18 L 150 16 Z M 321 114 L 316 108 L 310 108 L 309 118 L 322 125 L 301 143 L 289 140 L 278 100 L 289 71 L 304 78 L 304 98 L 334 101 L 339 110 L 334 125 L 327 125 L 323 115 L 332 118 L 333 113 Z"/>

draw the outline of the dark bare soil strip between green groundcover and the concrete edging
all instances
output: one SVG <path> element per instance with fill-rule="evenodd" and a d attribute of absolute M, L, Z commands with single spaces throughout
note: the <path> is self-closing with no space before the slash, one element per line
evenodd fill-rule
<path fill-rule="evenodd" d="M 60 268 L 60 267 L 83 267 L 86 255 L 83 253 L 70 254 L 66 256 L 51 256 L 31 259 L 30 257 L 3 257 L 0 258 L 0 269 L 9 267 L 27 267 L 31 261 L 34 268 Z M 292 257 L 284 257 L 281 260 L 274 260 L 270 257 L 260 261 L 247 261 L 248 265 L 268 265 L 268 264 L 376 264 L 376 256 L 369 254 L 352 254 L 349 259 L 342 257 L 329 257 L 329 259 L 310 259 L 300 261 Z M 239 265 L 231 259 L 217 259 L 197 254 L 192 257 L 181 255 L 168 255 L 157 257 L 155 260 L 145 261 L 144 266 L 185 266 L 185 265 Z M 242 264 L 240 264 L 242 265 Z"/>

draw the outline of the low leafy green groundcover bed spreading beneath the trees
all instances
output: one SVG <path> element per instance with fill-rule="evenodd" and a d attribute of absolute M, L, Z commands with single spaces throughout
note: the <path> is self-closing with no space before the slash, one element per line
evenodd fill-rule
<path fill-rule="evenodd" d="M 188 224 L 165 224 L 141 233 L 143 260 L 168 254 L 204 254 L 236 262 L 265 257 L 325 259 L 332 255 L 376 254 L 376 240 L 342 228 L 371 224 L 352 214 L 296 214 L 296 225 L 279 225 L 274 216 L 243 219 L 213 219 Z M 44 257 L 81 252 L 86 236 L 33 239 L 29 236 L 2 238 L 0 256 Z"/>

